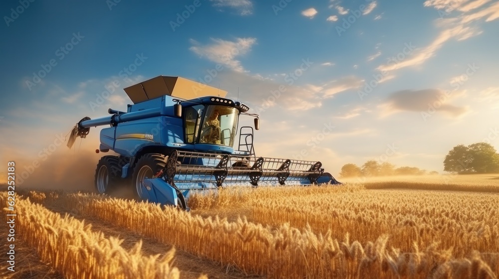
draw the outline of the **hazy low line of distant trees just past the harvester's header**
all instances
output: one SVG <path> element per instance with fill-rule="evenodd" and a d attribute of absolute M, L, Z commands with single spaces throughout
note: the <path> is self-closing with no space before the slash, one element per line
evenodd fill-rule
<path fill-rule="evenodd" d="M 362 166 L 356 164 L 345 164 L 341 167 L 341 177 L 360 177 L 360 176 L 389 176 L 389 175 L 424 175 L 438 174 L 436 171 L 427 172 L 413 166 L 395 167 L 389 162 L 379 163 L 376 160 L 366 161 Z"/>

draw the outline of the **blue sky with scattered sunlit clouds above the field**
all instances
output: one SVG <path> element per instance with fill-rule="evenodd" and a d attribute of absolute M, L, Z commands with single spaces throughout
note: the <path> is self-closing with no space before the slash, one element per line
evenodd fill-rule
<path fill-rule="evenodd" d="M 495 0 L 7 0 L 0 12 L 0 173 L 16 161 L 25 178 L 93 179 L 100 129 L 71 150 L 65 136 L 159 75 L 249 105 L 258 156 L 333 175 L 366 160 L 442 173 L 457 144 L 499 149 Z"/>

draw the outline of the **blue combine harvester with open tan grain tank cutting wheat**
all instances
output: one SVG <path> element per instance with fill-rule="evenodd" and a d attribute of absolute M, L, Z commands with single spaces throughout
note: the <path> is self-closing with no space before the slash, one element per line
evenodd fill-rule
<path fill-rule="evenodd" d="M 258 115 L 241 102 L 225 98 L 227 92 L 182 77 L 159 76 L 124 89 L 133 105 L 126 112 L 109 109 L 110 116 L 80 120 L 67 146 L 86 138 L 90 127 L 110 125 L 100 132 L 96 152 L 105 155 L 95 172 L 95 187 L 106 193 L 130 183 L 141 199 L 189 210 L 192 189 L 228 184 L 258 183 L 340 184 L 324 173 L 321 162 L 256 157 L 253 128 L 241 127 L 240 115 Z M 125 184 L 126 184 L 125 183 Z"/>

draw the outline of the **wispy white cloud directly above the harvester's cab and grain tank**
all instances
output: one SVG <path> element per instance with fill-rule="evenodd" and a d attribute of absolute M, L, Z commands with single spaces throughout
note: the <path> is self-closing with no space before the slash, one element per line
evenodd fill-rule
<path fill-rule="evenodd" d="M 191 39 L 193 46 L 189 49 L 201 57 L 206 57 L 215 63 L 223 64 L 237 72 L 246 71 L 241 65 L 241 61 L 236 58 L 248 53 L 256 43 L 256 38 L 237 38 L 235 41 L 215 38 L 211 40 L 212 44 L 201 45 L 199 42 Z"/>

